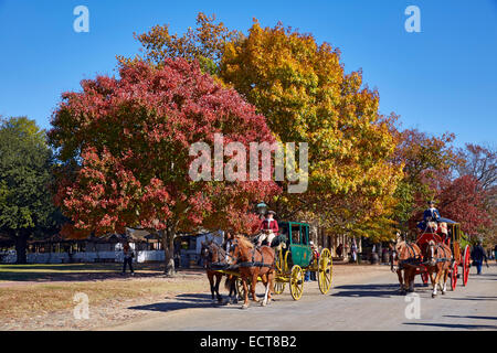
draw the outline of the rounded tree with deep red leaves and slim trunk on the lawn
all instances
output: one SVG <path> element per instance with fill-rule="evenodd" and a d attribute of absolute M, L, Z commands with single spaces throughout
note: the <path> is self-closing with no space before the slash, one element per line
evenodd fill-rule
<path fill-rule="evenodd" d="M 202 74 L 197 61 L 123 64 L 119 78 L 85 79 L 82 92 L 62 98 L 49 137 L 63 164 L 56 203 L 73 221 L 66 232 L 149 229 L 162 238 L 171 275 L 178 232 L 246 229 L 255 221 L 253 203 L 278 192 L 271 181 L 190 178 L 195 142 L 213 147 L 216 133 L 224 145 L 274 141 L 264 117 Z"/>

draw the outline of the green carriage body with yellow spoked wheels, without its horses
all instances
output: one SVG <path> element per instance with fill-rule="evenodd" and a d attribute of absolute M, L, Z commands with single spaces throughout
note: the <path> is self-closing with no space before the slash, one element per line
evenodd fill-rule
<path fill-rule="evenodd" d="M 319 256 L 315 256 L 309 240 L 309 225 L 300 222 L 281 222 L 279 240 L 275 293 L 282 293 L 288 284 L 292 298 L 299 300 L 304 292 L 304 272 L 314 271 L 318 279 L 319 290 L 326 295 L 331 288 L 331 253 L 324 248 Z"/>

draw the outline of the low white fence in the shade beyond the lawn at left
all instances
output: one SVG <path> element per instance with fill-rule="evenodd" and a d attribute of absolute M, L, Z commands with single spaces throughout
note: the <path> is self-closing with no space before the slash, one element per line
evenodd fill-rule
<path fill-rule="evenodd" d="M 141 250 L 135 253 L 135 263 L 163 261 L 163 250 Z M 0 254 L 1 263 L 14 264 L 17 259 L 15 252 Z M 28 264 L 68 264 L 68 263 L 103 263 L 114 261 L 123 263 L 123 252 L 88 252 L 73 253 L 72 261 L 67 253 L 34 253 L 28 254 Z"/>

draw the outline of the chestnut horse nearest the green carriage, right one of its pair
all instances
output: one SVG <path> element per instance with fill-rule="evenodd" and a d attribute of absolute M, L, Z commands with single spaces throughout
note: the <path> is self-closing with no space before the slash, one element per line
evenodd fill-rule
<path fill-rule="evenodd" d="M 271 295 L 273 292 L 274 276 L 275 276 L 275 253 L 268 246 L 255 247 L 244 236 L 235 236 L 233 239 L 232 253 L 233 265 L 237 265 L 240 268 L 240 277 L 242 278 L 242 285 L 244 290 L 244 302 L 242 309 L 248 308 L 248 286 L 247 279 L 251 279 L 251 295 L 252 300 L 257 301 L 255 296 L 255 287 L 257 285 L 257 278 L 261 277 L 266 291 L 262 306 L 266 306 L 271 302 Z"/>

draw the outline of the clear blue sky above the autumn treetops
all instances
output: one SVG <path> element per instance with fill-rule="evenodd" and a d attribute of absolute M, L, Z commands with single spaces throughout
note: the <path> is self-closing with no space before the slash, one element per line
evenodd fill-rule
<path fill-rule="evenodd" d="M 89 33 L 76 33 L 76 6 L 89 9 Z M 408 6 L 421 33 L 408 33 Z M 382 114 L 402 127 L 456 133 L 456 145 L 496 142 L 497 0 L 168 1 L 0 0 L 0 115 L 28 116 L 45 129 L 61 93 L 96 74 L 115 75 L 116 55 L 133 56 L 133 33 L 170 24 L 183 33 L 199 11 L 246 32 L 252 19 L 277 21 L 342 53 L 380 93 Z"/>

